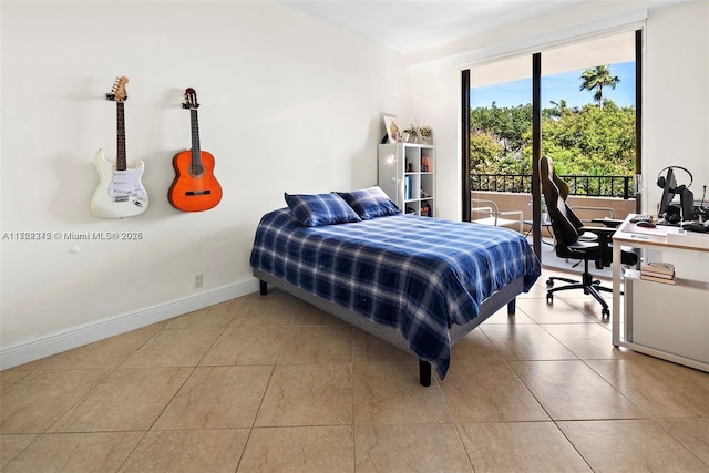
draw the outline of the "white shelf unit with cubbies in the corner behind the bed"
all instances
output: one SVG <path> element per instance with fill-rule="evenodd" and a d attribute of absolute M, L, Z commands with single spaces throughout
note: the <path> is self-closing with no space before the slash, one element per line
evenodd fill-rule
<path fill-rule="evenodd" d="M 407 214 L 435 216 L 435 148 L 432 145 L 379 145 L 378 185 Z"/>

